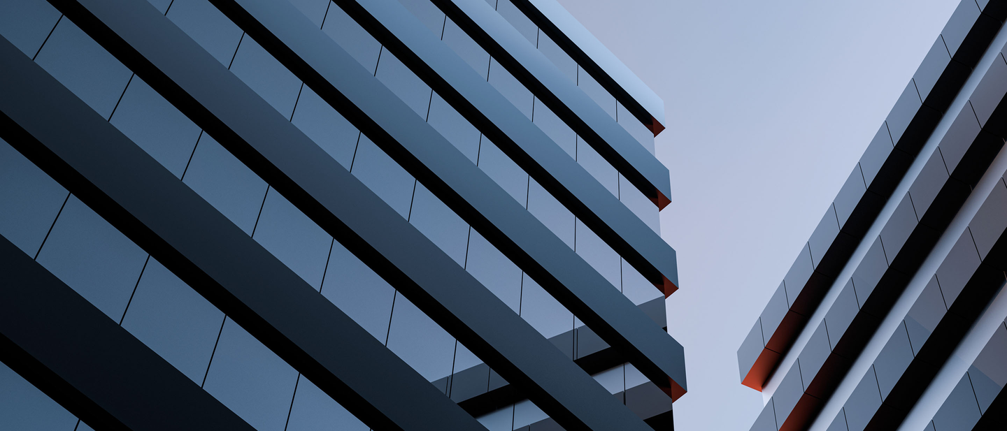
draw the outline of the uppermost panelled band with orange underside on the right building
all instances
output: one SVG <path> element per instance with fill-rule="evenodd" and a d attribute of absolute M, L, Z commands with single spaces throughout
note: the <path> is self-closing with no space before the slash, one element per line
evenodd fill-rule
<path fill-rule="evenodd" d="M 785 310 L 770 303 L 739 348 L 743 385 L 761 391 L 772 376 L 1005 17 L 1000 0 L 956 9 L 780 284 Z"/>

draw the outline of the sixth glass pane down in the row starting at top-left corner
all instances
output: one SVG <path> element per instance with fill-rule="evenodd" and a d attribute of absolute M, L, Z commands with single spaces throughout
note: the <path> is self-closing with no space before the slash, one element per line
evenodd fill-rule
<path fill-rule="evenodd" d="M 332 244 L 321 294 L 382 343 L 388 340 L 395 289 L 339 242 Z"/>

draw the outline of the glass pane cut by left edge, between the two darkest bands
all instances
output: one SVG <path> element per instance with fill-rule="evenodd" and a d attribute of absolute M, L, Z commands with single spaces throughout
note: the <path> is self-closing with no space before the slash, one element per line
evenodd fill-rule
<path fill-rule="evenodd" d="M 68 194 L 0 139 L 0 235 L 34 258 Z"/>

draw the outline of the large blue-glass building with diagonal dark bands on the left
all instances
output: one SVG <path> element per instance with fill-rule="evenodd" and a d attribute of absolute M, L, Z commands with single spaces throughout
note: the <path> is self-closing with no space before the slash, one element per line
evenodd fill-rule
<path fill-rule="evenodd" d="M 0 2 L 0 429 L 672 429 L 662 101 L 553 0 L 292 3 Z"/>

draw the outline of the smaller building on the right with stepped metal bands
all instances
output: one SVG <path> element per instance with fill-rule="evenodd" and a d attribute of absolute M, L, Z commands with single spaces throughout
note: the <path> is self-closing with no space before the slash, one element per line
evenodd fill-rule
<path fill-rule="evenodd" d="M 755 321 L 751 431 L 1007 426 L 1005 18 L 959 4 Z"/>

